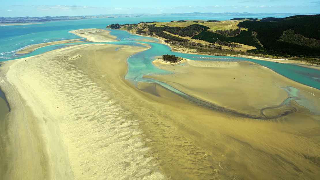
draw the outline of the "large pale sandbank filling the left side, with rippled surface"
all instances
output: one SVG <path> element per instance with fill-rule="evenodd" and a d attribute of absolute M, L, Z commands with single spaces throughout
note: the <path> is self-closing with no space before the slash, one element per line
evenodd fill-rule
<path fill-rule="evenodd" d="M 4 62 L 2 87 L 12 112 L 7 126 L 10 134 L 5 136 L 7 151 L 1 154 L 7 166 L 2 177 L 130 179 L 136 172 L 162 179 L 164 175 L 150 162 L 155 159 L 144 158 L 148 147 L 141 141 L 139 121 L 128 116 L 113 95 L 117 93 L 114 86 L 121 85 L 119 74 L 126 72 L 126 58 L 146 49 L 83 44 Z M 97 67 L 105 63 L 108 67 Z M 108 74 L 101 72 L 104 68 Z M 123 164 L 127 161 L 134 164 L 126 171 Z"/>

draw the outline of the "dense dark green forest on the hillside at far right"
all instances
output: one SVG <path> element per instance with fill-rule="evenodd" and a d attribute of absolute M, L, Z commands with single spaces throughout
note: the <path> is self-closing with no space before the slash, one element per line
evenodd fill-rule
<path fill-rule="evenodd" d="M 320 56 L 320 15 L 264 18 L 261 21 L 243 21 L 238 26 L 256 32 L 263 46 L 249 52 L 263 50 L 272 55 Z"/>

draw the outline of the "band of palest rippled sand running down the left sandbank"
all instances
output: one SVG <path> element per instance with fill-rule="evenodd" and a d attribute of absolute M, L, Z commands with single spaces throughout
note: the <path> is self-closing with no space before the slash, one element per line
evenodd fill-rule
<path fill-rule="evenodd" d="M 29 58 L 20 70 L 33 82 L 30 92 L 57 119 L 75 179 L 167 179 L 146 155 L 139 120 L 130 119 L 131 112 L 70 57 Z"/>

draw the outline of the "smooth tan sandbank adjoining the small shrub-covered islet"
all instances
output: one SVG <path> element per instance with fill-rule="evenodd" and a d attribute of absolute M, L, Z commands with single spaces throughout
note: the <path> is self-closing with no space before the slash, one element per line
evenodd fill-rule
<path fill-rule="evenodd" d="M 255 116 L 259 116 L 263 108 L 276 107 L 284 102 L 288 94 L 282 88 L 287 86 L 299 87 L 300 93 L 310 99 L 314 99 L 309 96 L 310 93 L 319 93 L 319 90 L 312 90 L 313 88 L 294 82 L 267 67 L 252 62 L 187 59 L 183 65 L 174 67 L 166 66 L 170 64 L 159 62 L 159 60 L 153 63 L 156 67 L 172 71 L 174 74 L 145 77 L 165 82 L 206 102 Z M 320 97 L 320 94 L 318 95 Z M 319 100 L 315 100 L 314 103 L 320 106 Z M 268 113 L 272 114 L 272 111 L 275 111 L 276 115 L 288 109 L 290 110 L 290 108 L 268 109 Z"/>

